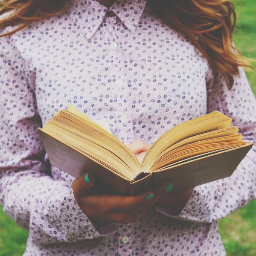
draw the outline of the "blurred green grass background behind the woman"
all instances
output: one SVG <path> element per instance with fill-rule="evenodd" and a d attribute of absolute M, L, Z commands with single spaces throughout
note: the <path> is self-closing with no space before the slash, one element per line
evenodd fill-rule
<path fill-rule="evenodd" d="M 238 22 L 234 34 L 243 55 L 256 59 L 256 0 L 234 1 Z M 253 63 L 256 68 L 256 62 Z M 256 96 L 256 70 L 247 72 Z M 228 256 L 256 256 L 256 200 L 220 220 L 219 228 Z M 20 228 L 0 207 L 0 256 L 22 256 L 27 231 Z"/>

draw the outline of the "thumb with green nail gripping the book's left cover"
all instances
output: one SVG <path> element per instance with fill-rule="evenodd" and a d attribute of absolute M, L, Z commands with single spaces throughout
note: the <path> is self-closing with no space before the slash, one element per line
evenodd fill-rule
<path fill-rule="evenodd" d="M 86 192 L 93 187 L 94 180 L 91 173 L 86 172 L 81 177 L 73 180 L 72 189 L 76 197 L 81 197 L 86 194 Z"/>

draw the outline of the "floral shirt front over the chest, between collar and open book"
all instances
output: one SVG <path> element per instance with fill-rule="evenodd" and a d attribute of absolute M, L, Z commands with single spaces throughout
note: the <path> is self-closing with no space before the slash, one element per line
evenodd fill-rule
<path fill-rule="evenodd" d="M 43 125 L 69 103 L 91 119 L 106 118 L 123 141 L 146 133 L 154 142 L 206 113 L 208 65 L 183 35 L 146 15 L 133 31 L 120 20 L 105 24 L 87 39 L 59 18 L 18 38 L 23 58 L 36 69 Z"/>

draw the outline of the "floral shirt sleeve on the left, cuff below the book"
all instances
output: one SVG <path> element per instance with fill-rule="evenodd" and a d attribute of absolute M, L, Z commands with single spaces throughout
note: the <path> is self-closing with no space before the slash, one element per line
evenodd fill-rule
<path fill-rule="evenodd" d="M 44 163 L 35 93 L 36 69 L 14 39 L 0 38 L 0 204 L 35 243 L 75 242 L 115 231 L 97 229 L 76 203 L 71 180 L 53 180 Z M 72 176 L 70 176 L 72 177 Z"/>

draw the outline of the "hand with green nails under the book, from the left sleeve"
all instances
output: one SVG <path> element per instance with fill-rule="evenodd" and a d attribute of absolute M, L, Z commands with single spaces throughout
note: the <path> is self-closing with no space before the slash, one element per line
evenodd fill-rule
<path fill-rule="evenodd" d="M 77 203 L 83 209 L 90 221 L 95 225 L 123 223 L 135 221 L 139 215 L 156 204 L 162 196 L 167 194 L 164 190 L 165 183 L 159 189 L 145 192 L 140 195 L 98 195 L 89 192 L 94 185 L 94 179 L 90 173 L 73 180 L 72 188 Z"/>

